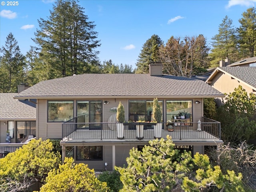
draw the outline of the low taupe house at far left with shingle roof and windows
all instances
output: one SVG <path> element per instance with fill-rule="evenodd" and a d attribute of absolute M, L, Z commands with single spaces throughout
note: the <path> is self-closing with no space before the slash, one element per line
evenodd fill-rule
<path fill-rule="evenodd" d="M 24 90 L 25 86 L 20 86 Z M 36 100 L 17 100 L 18 93 L 0 93 L 0 153 L 13 152 L 16 145 L 36 137 Z M 7 131 L 10 137 L 7 139 Z"/>

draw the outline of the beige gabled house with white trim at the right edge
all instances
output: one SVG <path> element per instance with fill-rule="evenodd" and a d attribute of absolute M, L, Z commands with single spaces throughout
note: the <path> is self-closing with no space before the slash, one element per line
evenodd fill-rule
<path fill-rule="evenodd" d="M 234 92 L 234 88 L 241 85 L 248 94 L 256 94 L 256 67 L 217 67 L 206 80 L 206 83 L 222 93 Z"/>

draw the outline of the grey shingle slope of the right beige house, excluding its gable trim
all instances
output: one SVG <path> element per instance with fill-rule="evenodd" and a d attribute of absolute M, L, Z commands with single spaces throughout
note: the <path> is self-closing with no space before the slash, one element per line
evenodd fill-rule
<path fill-rule="evenodd" d="M 256 88 L 256 67 L 219 67 L 230 75 Z"/>

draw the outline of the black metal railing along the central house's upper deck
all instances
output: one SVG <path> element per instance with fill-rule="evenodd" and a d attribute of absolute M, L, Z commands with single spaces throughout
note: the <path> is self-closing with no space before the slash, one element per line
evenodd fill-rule
<path fill-rule="evenodd" d="M 117 123 L 76 122 L 77 118 L 62 124 L 62 138 L 65 140 L 109 140 L 117 139 Z M 138 123 L 137 123 L 138 124 Z M 124 125 L 124 139 L 154 139 L 154 126 L 150 123 L 139 123 L 136 130 L 134 123 Z M 202 122 L 172 122 L 174 131 L 168 131 L 170 122 L 162 123 L 161 137 L 171 135 L 173 139 L 221 139 L 220 122 L 202 118 Z"/>

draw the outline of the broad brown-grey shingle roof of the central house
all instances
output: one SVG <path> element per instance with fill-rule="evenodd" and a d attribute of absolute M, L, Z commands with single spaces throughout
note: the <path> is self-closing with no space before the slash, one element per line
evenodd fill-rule
<path fill-rule="evenodd" d="M 202 80 L 171 75 L 80 74 L 46 80 L 16 98 L 212 97 L 224 96 Z"/>

